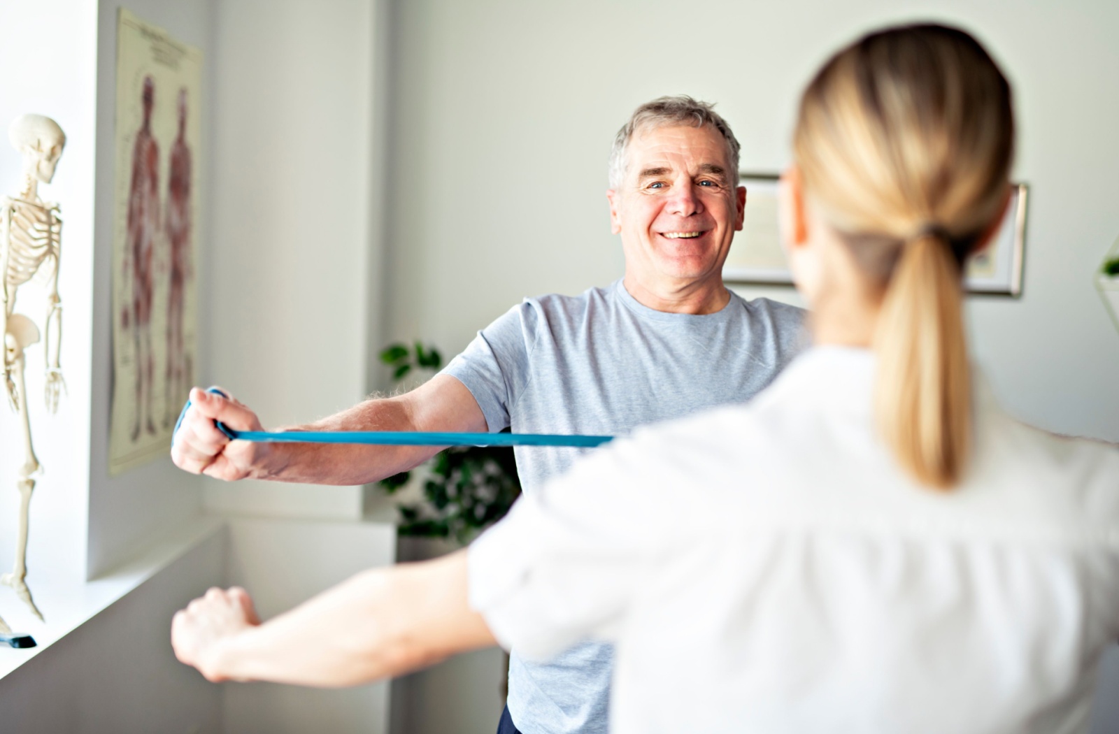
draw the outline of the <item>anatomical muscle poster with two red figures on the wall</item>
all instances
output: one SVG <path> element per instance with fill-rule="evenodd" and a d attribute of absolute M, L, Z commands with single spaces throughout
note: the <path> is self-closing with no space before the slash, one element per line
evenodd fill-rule
<path fill-rule="evenodd" d="M 167 455 L 195 380 L 201 51 L 120 9 L 109 472 Z"/>

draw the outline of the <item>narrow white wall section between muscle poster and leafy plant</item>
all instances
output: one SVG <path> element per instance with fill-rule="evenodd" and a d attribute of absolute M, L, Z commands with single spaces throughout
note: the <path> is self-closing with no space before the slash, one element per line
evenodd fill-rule
<path fill-rule="evenodd" d="M 266 426 L 367 392 L 374 0 L 222 0 L 209 380 Z M 210 483 L 210 511 L 357 518 L 360 488 Z"/>

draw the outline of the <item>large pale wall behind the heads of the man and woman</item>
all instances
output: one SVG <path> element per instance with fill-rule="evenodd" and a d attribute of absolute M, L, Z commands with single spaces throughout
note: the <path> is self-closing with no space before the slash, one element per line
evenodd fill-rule
<path fill-rule="evenodd" d="M 525 295 L 619 277 L 606 157 L 641 102 L 717 102 L 743 168 L 777 171 L 799 91 L 828 54 L 883 23 L 942 19 L 1004 64 L 1017 94 L 1015 176 L 1032 187 L 1024 294 L 971 301 L 975 350 L 1017 414 L 1119 440 L 1119 335 L 1092 288 L 1119 236 L 1119 4 L 407 0 L 396 11 L 391 337 L 454 354 Z M 424 675 L 416 711 L 469 690 Z M 458 731 L 495 724 L 463 718 Z"/>

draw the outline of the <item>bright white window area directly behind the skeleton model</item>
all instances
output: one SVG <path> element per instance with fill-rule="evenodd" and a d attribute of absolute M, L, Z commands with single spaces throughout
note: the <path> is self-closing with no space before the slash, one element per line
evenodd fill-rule
<path fill-rule="evenodd" d="M 36 453 L 44 467 L 30 507 L 29 583 L 79 583 L 85 577 L 85 524 L 90 443 L 90 360 L 93 300 L 94 55 L 96 8 L 77 0 L 7 3 L 0 20 L 0 195 L 17 196 L 22 161 L 8 143 L 8 125 L 21 113 L 53 117 L 66 133 L 66 150 L 50 185 L 39 195 L 62 204 L 65 341 L 63 371 L 67 395 L 50 415 L 43 402 L 43 344 L 27 352 L 28 408 Z M 15 73 L 22 69 L 25 73 Z M 34 69 L 34 74 L 31 70 Z M 43 328 L 44 290 L 29 283 L 19 291 L 17 310 Z M 0 388 L 0 392 L 3 392 Z M 16 550 L 19 493 L 17 470 L 23 462 L 22 430 L 8 398 L 0 397 L 0 568 L 11 567 Z M 0 615 L 18 618 L 22 604 L 0 590 Z M 49 612 L 49 610 L 47 610 Z M 28 615 L 29 617 L 29 615 Z"/>

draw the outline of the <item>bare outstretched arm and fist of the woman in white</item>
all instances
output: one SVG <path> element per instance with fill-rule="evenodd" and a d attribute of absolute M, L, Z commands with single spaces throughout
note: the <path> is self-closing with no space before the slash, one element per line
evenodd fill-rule
<path fill-rule="evenodd" d="M 263 624 L 242 589 L 211 589 L 171 623 L 208 680 L 341 687 L 495 644 L 467 601 L 467 552 L 363 572 Z"/>

